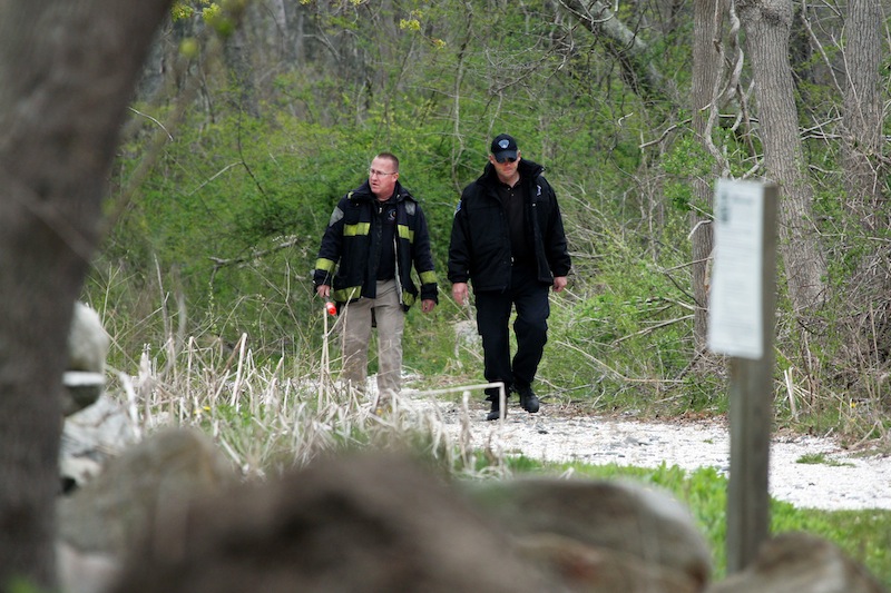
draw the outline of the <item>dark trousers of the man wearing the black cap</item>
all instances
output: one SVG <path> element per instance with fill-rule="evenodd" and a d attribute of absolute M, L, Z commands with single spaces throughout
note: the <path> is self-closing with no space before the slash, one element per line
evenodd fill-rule
<path fill-rule="evenodd" d="M 506 389 L 511 386 L 522 389 L 532 384 L 548 342 L 549 289 L 550 285 L 540 283 L 533 270 L 515 267 L 507 290 L 473 295 L 477 303 L 477 327 L 482 336 L 487 382 L 501 380 Z M 508 323 L 515 306 L 517 354 L 511 364 Z M 495 401 L 498 389 L 486 389 L 486 394 L 487 399 Z"/>

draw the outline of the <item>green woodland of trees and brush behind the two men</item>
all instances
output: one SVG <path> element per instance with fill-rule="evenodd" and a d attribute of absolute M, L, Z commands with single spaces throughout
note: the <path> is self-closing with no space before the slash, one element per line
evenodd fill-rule
<path fill-rule="evenodd" d="M 257 0 L 176 6 L 129 109 L 84 299 L 110 363 L 247 347 L 324 364 L 311 270 L 379 151 L 430 224 L 440 306 L 405 367 L 477 383 L 454 327 L 451 218 L 513 135 L 557 191 L 574 269 L 538 392 L 594 412 L 723 414 L 705 346 L 719 177 L 781 187 L 777 423 L 885 435 L 889 2 Z M 372 360 L 372 372 L 374 362 Z"/>

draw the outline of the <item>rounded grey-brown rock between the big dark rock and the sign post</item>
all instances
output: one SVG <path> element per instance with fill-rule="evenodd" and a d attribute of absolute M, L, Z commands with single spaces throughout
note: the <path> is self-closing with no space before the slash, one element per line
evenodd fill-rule
<path fill-rule="evenodd" d="M 576 586 L 587 583 L 594 587 L 588 591 L 652 591 L 668 583 L 699 591 L 709 580 L 705 537 L 665 492 L 625 482 L 537 477 L 488 482 L 469 493 L 533 548 L 550 536 L 544 540 L 550 547 L 537 557 L 551 573 L 572 577 L 571 563 L 564 561 L 578 557 L 586 575 Z M 606 579 L 598 566 L 615 576 Z"/>

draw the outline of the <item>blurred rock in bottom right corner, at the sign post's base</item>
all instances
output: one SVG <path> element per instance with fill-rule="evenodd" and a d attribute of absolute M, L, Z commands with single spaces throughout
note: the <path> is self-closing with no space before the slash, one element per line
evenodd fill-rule
<path fill-rule="evenodd" d="M 746 570 L 708 589 L 708 593 L 884 593 L 863 566 L 835 545 L 805 533 L 767 540 Z"/>

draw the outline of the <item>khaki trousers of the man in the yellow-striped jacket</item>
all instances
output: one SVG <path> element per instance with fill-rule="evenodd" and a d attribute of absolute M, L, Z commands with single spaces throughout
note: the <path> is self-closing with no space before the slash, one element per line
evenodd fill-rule
<path fill-rule="evenodd" d="M 371 316 L 378 326 L 378 402 L 382 405 L 402 388 L 402 328 L 405 312 L 395 280 L 378 281 L 376 298 L 360 298 L 341 309 L 342 377 L 364 393 L 371 344 Z"/>

